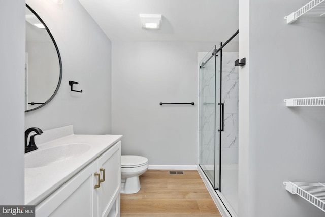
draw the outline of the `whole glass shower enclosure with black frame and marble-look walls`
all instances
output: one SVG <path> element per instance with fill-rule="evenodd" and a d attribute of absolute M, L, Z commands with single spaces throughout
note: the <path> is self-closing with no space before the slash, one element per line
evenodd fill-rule
<path fill-rule="evenodd" d="M 234 216 L 238 209 L 237 39 L 238 31 L 199 63 L 199 166 Z"/>

